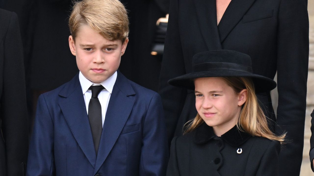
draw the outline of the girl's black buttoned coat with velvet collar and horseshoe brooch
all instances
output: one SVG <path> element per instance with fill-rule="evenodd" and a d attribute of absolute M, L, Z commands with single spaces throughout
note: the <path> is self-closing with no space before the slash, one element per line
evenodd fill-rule
<path fill-rule="evenodd" d="M 277 176 L 279 151 L 278 141 L 252 137 L 236 126 L 217 137 L 203 123 L 173 139 L 167 176 Z"/>

